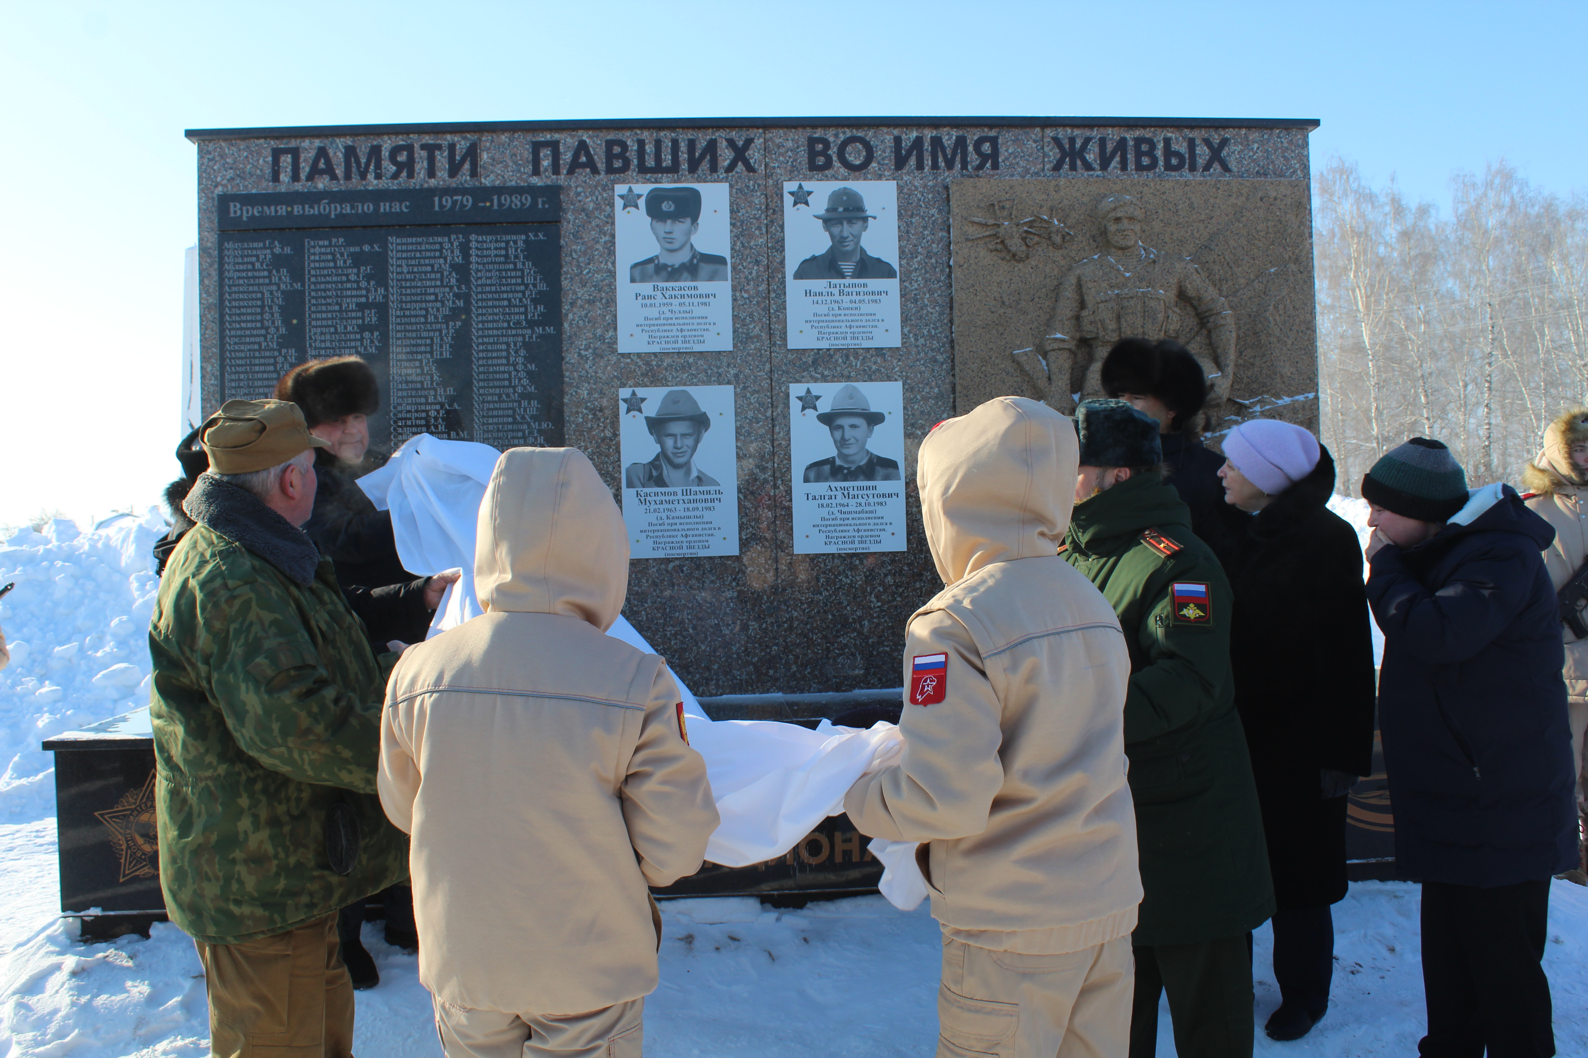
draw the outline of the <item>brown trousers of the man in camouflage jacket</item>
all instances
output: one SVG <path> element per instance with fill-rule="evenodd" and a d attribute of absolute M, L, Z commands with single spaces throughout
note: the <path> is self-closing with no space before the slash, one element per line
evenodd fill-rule
<path fill-rule="evenodd" d="M 353 1058 L 353 980 L 337 915 L 257 941 L 194 947 L 214 1058 Z"/>

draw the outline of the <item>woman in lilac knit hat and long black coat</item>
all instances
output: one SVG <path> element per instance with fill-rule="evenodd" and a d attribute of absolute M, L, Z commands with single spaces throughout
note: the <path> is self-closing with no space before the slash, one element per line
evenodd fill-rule
<path fill-rule="evenodd" d="M 1345 803 L 1372 771 L 1374 650 L 1363 550 L 1324 504 L 1328 449 L 1285 422 L 1224 441 L 1226 503 L 1210 533 L 1229 584 L 1231 669 L 1274 874 L 1274 1039 L 1299 1039 L 1329 1006 L 1345 896 Z"/>

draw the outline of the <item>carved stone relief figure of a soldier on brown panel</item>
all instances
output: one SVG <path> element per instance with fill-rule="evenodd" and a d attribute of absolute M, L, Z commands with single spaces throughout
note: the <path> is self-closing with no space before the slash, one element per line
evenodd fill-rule
<path fill-rule="evenodd" d="M 1073 408 L 1070 370 L 1081 362 L 1088 365 L 1081 400 L 1104 397 L 1102 360 L 1121 338 L 1185 343 L 1204 327 L 1216 360 L 1204 365 L 1212 401 L 1223 401 L 1235 371 L 1235 317 L 1224 298 L 1191 260 L 1159 254 L 1142 241 L 1147 213 L 1129 195 L 1104 195 L 1094 217 L 1104 249 L 1059 279 L 1042 339 L 1046 371 L 1039 373 L 1029 363 L 1031 351 L 1023 351 L 1027 373 L 1050 379 L 1048 403 L 1066 412 Z"/>

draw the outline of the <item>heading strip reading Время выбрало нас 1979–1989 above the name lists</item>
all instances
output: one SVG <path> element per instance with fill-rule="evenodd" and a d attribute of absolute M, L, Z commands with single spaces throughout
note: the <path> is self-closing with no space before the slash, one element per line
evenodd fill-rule
<path fill-rule="evenodd" d="M 557 224 L 562 189 L 405 187 L 216 195 L 219 230 L 380 228 L 392 224 Z"/>

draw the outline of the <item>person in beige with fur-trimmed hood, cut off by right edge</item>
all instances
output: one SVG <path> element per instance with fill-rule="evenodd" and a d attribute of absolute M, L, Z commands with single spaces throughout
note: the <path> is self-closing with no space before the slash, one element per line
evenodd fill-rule
<path fill-rule="evenodd" d="M 1528 489 L 1523 500 L 1534 514 L 1555 528 L 1555 542 L 1544 552 L 1544 565 L 1558 592 L 1577 576 L 1588 560 L 1588 408 L 1574 408 L 1544 431 L 1544 449 L 1521 471 Z M 1588 623 L 1588 604 L 1577 612 Z M 1578 639 L 1561 622 L 1566 641 L 1566 709 L 1572 725 L 1572 760 L 1577 761 L 1577 811 L 1588 814 L 1583 772 L 1588 771 L 1588 638 Z M 1582 831 L 1578 831 L 1582 833 Z M 1588 841 L 1580 842 L 1580 861 L 1564 877 L 1588 885 Z"/>

